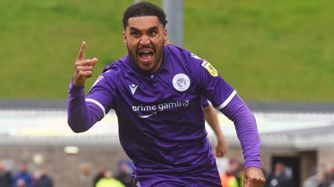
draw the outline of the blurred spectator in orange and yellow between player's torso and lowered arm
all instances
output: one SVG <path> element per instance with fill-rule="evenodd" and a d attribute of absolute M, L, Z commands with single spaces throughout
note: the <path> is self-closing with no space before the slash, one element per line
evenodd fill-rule
<path fill-rule="evenodd" d="M 239 181 L 236 176 L 239 171 L 238 169 L 238 161 L 235 159 L 230 159 L 227 170 L 225 170 L 225 173 L 221 175 L 221 185 L 224 187 L 239 187 Z"/>

